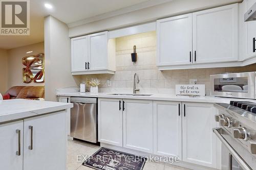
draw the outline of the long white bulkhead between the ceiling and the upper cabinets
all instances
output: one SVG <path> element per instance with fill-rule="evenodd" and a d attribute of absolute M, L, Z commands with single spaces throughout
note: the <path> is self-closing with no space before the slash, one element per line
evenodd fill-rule
<path fill-rule="evenodd" d="M 154 7 L 72 27 L 69 30 L 69 36 L 77 37 L 238 2 L 242 2 L 242 0 L 175 0 Z"/>

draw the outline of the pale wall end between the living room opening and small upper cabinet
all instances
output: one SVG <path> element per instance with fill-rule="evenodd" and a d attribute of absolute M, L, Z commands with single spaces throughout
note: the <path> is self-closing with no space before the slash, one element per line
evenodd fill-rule
<path fill-rule="evenodd" d="M 71 40 L 68 26 L 45 18 L 45 99 L 56 101 L 56 88 L 77 86 L 80 76 L 71 75 Z"/>

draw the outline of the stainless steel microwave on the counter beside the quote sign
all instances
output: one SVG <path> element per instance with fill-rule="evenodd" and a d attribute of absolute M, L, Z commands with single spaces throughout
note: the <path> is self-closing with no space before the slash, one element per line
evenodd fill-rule
<path fill-rule="evenodd" d="M 239 72 L 210 76 L 210 95 L 226 98 L 256 99 L 255 73 Z"/>

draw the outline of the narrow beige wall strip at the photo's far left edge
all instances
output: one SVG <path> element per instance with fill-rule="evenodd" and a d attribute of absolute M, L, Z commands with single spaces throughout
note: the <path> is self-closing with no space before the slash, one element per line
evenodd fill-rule
<path fill-rule="evenodd" d="M 0 93 L 4 94 L 8 89 L 8 56 L 7 50 L 0 49 Z"/>

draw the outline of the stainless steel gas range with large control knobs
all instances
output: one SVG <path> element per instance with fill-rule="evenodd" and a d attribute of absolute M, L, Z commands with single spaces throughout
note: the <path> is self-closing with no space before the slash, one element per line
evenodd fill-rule
<path fill-rule="evenodd" d="M 220 128 L 214 133 L 222 142 L 222 170 L 256 169 L 256 103 L 216 103 Z"/>

